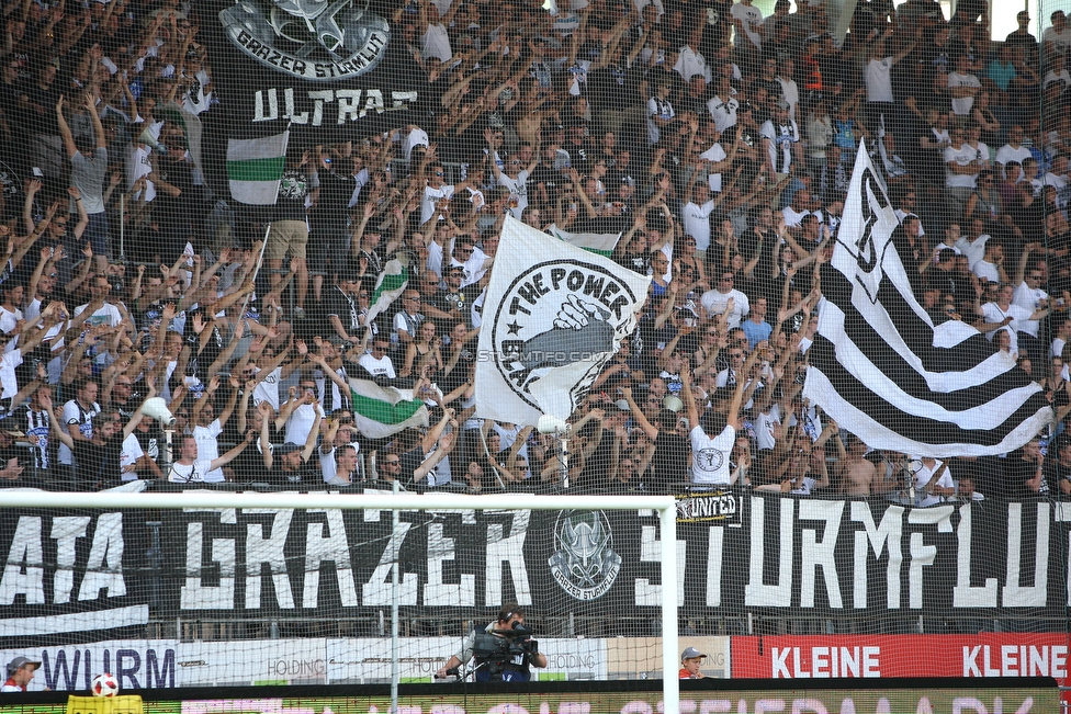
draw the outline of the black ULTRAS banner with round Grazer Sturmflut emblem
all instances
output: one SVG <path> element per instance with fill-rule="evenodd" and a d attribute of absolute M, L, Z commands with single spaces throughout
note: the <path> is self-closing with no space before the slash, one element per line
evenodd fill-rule
<path fill-rule="evenodd" d="M 404 126 L 404 112 L 426 82 L 390 14 L 367 0 L 201 5 L 212 77 L 228 113 L 221 128 L 232 138 L 290 127 L 300 136 L 345 141 L 371 129 L 371 117 L 394 114 L 383 125 Z"/>

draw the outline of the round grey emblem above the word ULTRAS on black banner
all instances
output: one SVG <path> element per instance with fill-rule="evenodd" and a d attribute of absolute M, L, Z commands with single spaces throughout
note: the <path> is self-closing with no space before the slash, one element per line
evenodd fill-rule
<path fill-rule="evenodd" d="M 244 0 L 223 10 L 219 21 L 246 55 L 308 81 L 359 77 L 391 44 L 391 25 L 368 0 Z"/>

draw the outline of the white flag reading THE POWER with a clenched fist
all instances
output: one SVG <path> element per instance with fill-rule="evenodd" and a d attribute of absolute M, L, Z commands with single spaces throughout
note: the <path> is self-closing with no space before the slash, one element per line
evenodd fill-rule
<path fill-rule="evenodd" d="M 567 419 L 635 329 L 650 283 L 506 216 L 484 302 L 476 416 Z"/>

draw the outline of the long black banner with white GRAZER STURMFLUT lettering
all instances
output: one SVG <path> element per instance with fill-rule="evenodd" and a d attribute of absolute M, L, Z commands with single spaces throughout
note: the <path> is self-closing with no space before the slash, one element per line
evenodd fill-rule
<path fill-rule="evenodd" d="M 1067 611 L 1071 503 L 745 496 L 741 508 L 740 521 L 678 523 L 683 617 Z M 654 617 L 658 532 L 650 511 L 403 512 L 392 533 L 388 511 L 3 509 L 0 646 L 119 638 L 150 617 L 370 616 L 391 605 L 395 558 L 414 614 L 484 616 L 515 600 L 536 616 Z"/>

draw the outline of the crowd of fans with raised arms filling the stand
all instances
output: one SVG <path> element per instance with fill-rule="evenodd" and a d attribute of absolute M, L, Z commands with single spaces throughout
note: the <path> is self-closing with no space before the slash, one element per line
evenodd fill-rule
<path fill-rule="evenodd" d="M 928 0 L 860 1 L 838 41 L 822 0 L 768 18 L 751 1 L 550 4 L 377 8 L 427 76 L 421 111 L 292 141 L 278 205 L 250 225 L 191 151 L 191 117 L 227 102 L 212 73 L 228 68 L 199 41 L 215 18 L 177 0 L 8 2 L 0 158 L 25 180 L 0 226 L 0 481 L 482 491 L 567 472 L 598 492 L 1071 494 L 1062 11 L 1040 42 L 1026 12 L 991 42 L 984 0 L 949 20 Z M 1013 454 L 871 451 L 800 395 L 864 140 L 918 302 L 974 324 L 1057 408 Z M 620 233 L 613 259 L 652 276 L 567 465 L 555 437 L 474 418 L 506 214 Z M 409 282 L 383 309 L 393 258 Z M 414 389 L 429 426 L 370 438 L 348 377 Z M 177 418 L 170 461 L 142 413 L 156 396 Z"/>

